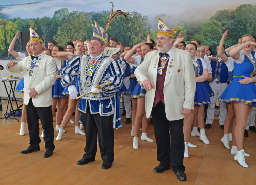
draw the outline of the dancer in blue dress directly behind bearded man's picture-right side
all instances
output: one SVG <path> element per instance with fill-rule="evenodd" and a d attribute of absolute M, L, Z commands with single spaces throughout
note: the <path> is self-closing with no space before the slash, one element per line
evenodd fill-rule
<path fill-rule="evenodd" d="M 198 125 L 200 128 L 200 140 L 202 140 L 205 144 L 210 144 L 209 140 L 206 137 L 204 130 L 204 105 L 210 104 L 210 97 L 205 86 L 204 81 L 206 81 L 209 77 L 208 68 L 206 66 L 205 61 L 202 58 L 198 58 L 196 56 L 197 45 L 195 43 L 188 43 L 186 45 L 186 51 L 190 52 L 191 59 L 193 61 L 193 67 L 196 76 L 196 93 L 194 98 L 194 110 L 191 111 L 190 114 L 186 115 L 184 118 L 184 143 L 185 143 L 185 151 L 184 158 L 188 158 L 188 140 L 191 134 L 191 127 L 193 124 L 193 120 L 195 115 L 197 115 Z M 202 111 L 200 111 L 202 110 Z"/>

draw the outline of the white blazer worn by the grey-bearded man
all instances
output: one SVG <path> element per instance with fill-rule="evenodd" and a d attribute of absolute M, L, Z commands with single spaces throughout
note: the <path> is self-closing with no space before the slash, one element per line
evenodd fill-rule
<path fill-rule="evenodd" d="M 135 70 L 135 76 L 142 85 L 150 80 L 156 86 L 159 50 L 146 54 L 142 64 Z M 189 52 L 172 48 L 164 82 L 164 103 L 166 117 L 169 121 L 183 119 L 182 108 L 194 109 L 196 77 Z M 143 85 L 142 85 L 143 88 Z M 146 117 L 149 118 L 155 100 L 156 88 L 145 95 Z"/>

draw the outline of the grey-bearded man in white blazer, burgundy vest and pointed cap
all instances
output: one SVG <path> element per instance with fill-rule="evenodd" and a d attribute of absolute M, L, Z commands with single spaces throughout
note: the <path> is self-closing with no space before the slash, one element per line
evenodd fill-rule
<path fill-rule="evenodd" d="M 176 32 L 158 18 L 158 50 L 145 56 L 135 76 L 147 90 L 146 117 L 153 117 L 160 161 L 153 171 L 162 173 L 172 166 L 177 178 L 185 181 L 183 118 L 194 109 L 196 80 L 190 54 L 173 47 Z"/>

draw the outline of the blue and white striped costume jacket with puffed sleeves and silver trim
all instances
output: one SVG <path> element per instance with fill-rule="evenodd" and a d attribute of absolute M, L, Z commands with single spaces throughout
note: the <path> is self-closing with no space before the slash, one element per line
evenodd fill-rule
<path fill-rule="evenodd" d="M 115 111 L 115 94 L 123 86 L 123 67 L 117 60 L 106 56 L 104 53 L 98 58 L 97 66 L 91 76 L 86 73 L 89 70 L 90 56 L 76 56 L 67 62 L 61 73 L 61 83 L 64 88 L 76 83 L 78 73 L 78 85 L 80 95 L 97 86 L 102 80 L 112 81 L 106 90 L 94 95 L 92 93 L 83 96 L 79 102 L 79 110 L 86 113 L 87 102 L 92 114 L 99 113 L 101 116 L 109 116 Z M 90 83 L 88 83 L 90 82 Z M 104 88 L 103 88 L 104 89 Z"/>

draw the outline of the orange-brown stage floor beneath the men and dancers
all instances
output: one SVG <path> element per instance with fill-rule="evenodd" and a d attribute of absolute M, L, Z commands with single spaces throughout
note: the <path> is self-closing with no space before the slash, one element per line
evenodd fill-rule
<path fill-rule="evenodd" d="M 6 107 L 6 101 L 2 103 L 0 117 Z M 205 145 L 199 137 L 190 138 L 197 148 L 189 148 L 189 158 L 184 159 L 186 182 L 179 181 L 172 170 L 161 174 L 153 172 L 159 164 L 153 124 L 148 128 L 148 136 L 154 142 L 141 141 L 139 137 L 139 149 L 135 150 L 130 136 L 131 124 L 125 124 L 123 117 L 123 127 L 114 131 L 115 161 L 108 170 L 101 169 L 99 148 L 95 162 L 76 164 L 84 154 L 86 142 L 83 135 L 74 134 L 74 128 L 75 125 L 69 123 L 60 141 L 56 141 L 58 132 L 54 131 L 55 150 L 50 158 L 44 158 L 43 140 L 41 151 L 20 154 L 29 146 L 28 130 L 20 136 L 20 122 L 0 119 L 0 184 L 256 184 L 256 133 L 249 130 L 249 137 L 244 139 L 244 149 L 250 157 L 245 158 L 249 168 L 243 168 L 220 141 L 223 130 L 218 117 L 214 125 L 206 129 L 210 145 Z"/>

